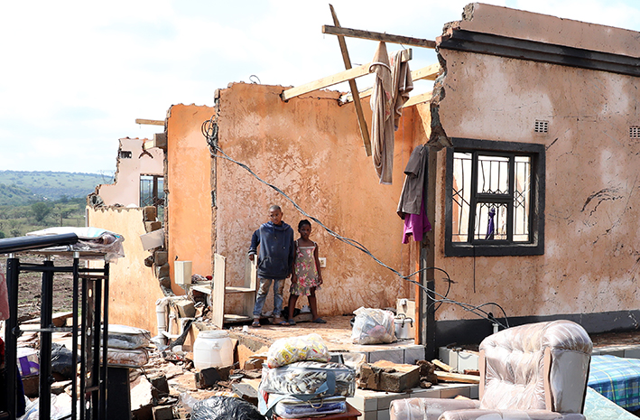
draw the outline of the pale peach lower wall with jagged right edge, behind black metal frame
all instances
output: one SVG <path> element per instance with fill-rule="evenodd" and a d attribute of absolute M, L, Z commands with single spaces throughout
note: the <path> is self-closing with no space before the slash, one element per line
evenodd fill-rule
<path fill-rule="evenodd" d="M 141 208 L 87 208 L 88 226 L 111 230 L 125 237 L 125 257 L 109 266 L 109 323 L 144 328 L 156 335 L 155 301 L 162 291 L 140 241 L 144 231 Z M 91 262 L 92 265 L 102 264 Z"/>

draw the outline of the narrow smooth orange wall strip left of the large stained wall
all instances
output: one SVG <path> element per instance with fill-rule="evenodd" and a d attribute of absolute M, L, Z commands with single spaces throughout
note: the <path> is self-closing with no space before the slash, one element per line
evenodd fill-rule
<path fill-rule="evenodd" d="M 174 105 L 167 118 L 168 251 L 173 261 L 192 261 L 192 273 L 211 275 L 211 158 L 200 126 L 212 107 Z M 184 294 L 175 284 L 173 292 Z"/>

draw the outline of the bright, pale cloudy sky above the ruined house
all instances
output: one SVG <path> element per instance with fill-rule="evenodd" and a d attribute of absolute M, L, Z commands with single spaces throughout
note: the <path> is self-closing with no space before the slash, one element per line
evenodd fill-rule
<path fill-rule="evenodd" d="M 342 26 L 433 40 L 469 2 L 331 3 Z M 640 31 L 640 2 L 485 3 Z M 320 31 L 332 24 L 328 1 L 35 0 L 1 10 L 0 170 L 114 171 L 118 138 L 162 130 L 135 118 L 163 119 L 173 104 L 211 106 L 215 89 L 251 75 L 296 86 L 344 69 L 336 38 Z M 347 43 L 357 64 L 376 48 Z M 434 62 L 433 51 L 413 48 L 413 70 Z M 358 79 L 360 89 L 369 85 Z"/>

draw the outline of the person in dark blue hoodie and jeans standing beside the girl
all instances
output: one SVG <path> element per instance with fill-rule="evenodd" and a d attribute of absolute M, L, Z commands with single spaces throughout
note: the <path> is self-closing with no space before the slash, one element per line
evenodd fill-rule
<path fill-rule="evenodd" d="M 272 282 L 274 283 L 274 323 L 283 326 L 289 325 L 283 320 L 281 314 L 284 282 L 291 275 L 295 258 L 293 229 L 283 222 L 283 210 L 280 209 L 280 206 L 273 205 L 269 208 L 269 219 L 255 230 L 251 237 L 251 247 L 249 247 L 251 261 L 257 254 L 258 246 L 260 247 L 260 255 L 258 256 L 260 287 L 255 299 L 252 327 L 260 326 L 262 308 Z"/>

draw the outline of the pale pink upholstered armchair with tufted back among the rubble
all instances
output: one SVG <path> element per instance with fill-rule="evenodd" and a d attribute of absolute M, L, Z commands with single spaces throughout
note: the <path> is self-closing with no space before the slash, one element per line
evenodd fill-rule
<path fill-rule="evenodd" d="M 399 399 L 391 420 L 583 420 L 592 348 L 570 321 L 496 332 L 480 344 L 479 401 Z"/>

